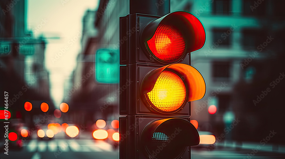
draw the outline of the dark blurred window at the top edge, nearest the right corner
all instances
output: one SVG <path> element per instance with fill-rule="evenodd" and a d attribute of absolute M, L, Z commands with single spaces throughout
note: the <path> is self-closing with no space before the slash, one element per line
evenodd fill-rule
<path fill-rule="evenodd" d="M 243 14 L 247 16 L 266 15 L 267 1 L 243 0 Z"/>

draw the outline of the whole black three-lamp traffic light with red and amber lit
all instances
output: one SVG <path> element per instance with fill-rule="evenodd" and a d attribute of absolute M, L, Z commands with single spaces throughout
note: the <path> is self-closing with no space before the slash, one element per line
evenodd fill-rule
<path fill-rule="evenodd" d="M 190 102 L 206 91 L 190 52 L 205 39 L 188 12 L 120 17 L 120 158 L 190 158 L 200 142 Z"/>

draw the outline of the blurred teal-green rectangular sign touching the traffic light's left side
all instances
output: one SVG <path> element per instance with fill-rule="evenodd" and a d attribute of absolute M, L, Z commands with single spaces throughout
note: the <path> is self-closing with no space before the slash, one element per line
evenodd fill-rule
<path fill-rule="evenodd" d="M 119 83 L 119 51 L 98 49 L 95 59 L 95 79 L 97 82 Z"/>

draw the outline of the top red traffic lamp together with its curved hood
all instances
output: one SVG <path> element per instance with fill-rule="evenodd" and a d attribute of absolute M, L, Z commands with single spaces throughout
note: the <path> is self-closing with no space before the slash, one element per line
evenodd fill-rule
<path fill-rule="evenodd" d="M 167 33 L 169 35 L 166 35 Z M 155 34 L 158 34 L 156 36 L 160 39 L 154 37 Z M 174 39 L 172 39 L 172 37 Z M 178 49 L 178 55 L 181 54 L 181 51 L 182 53 L 184 52 L 180 58 L 171 61 L 164 61 L 163 59 L 156 58 L 156 60 L 162 63 L 172 63 L 183 58 L 186 53 L 201 49 L 205 44 L 206 33 L 203 24 L 196 16 L 192 13 L 177 11 L 151 21 L 145 26 L 141 33 L 141 41 L 148 47 L 149 52 L 156 50 L 152 49 L 154 45 L 153 40 L 152 43 L 147 43 L 147 41 L 154 38 L 158 43 L 156 45 L 171 43 L 171 45 L 168 46 L 168 49 L 169 47 L 176 47 L 176 49 Z M 159 47 L 157 49 L 159 49 Z M 155 56 L 156 53 L 153 53 L 153 55 Z"/>

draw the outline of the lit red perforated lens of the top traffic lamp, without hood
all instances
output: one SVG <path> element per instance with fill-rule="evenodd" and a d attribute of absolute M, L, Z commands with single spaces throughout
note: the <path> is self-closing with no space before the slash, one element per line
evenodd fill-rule
<path fill-rule="evenodd" d="M 166 63 L 179 60 L 186 46 L 182 34 L 172 26 L 164 24 L 158 25 L 147 44 L 153 55 Z"/>

